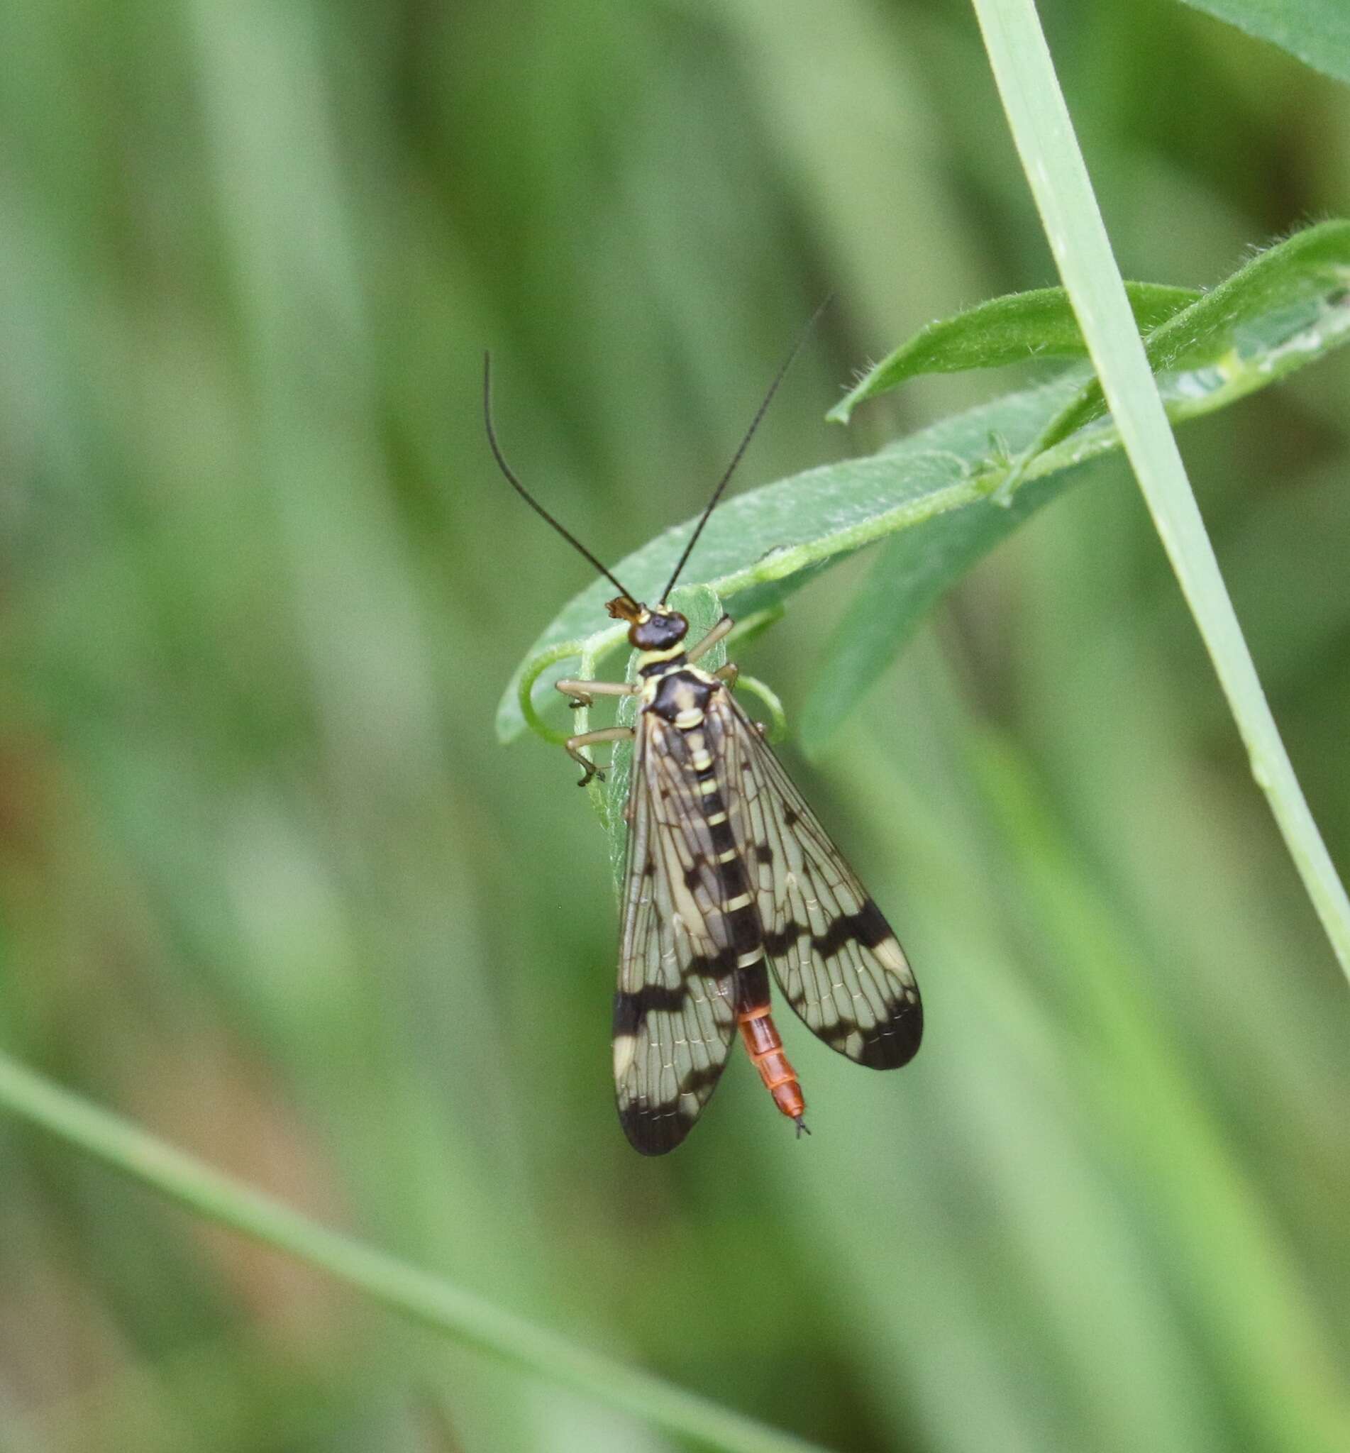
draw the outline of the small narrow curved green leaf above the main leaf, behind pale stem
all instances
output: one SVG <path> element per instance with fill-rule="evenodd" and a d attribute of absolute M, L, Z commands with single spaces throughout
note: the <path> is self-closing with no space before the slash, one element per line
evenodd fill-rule
<path fill-rule="evenodd" d="M 1193 288 L 1149 282 L 1128 282 L 1125 291 L 1142 333 L 1151 333 L 1200 296 Z M 1045 357 L 1087 357 L 1078 320 L 1062 288 L 991 298 L 930 323 L 869 369 L 827 417 L 846 424 L 863 400 L 885 394 L 918 373 L 959 373 Z"/>

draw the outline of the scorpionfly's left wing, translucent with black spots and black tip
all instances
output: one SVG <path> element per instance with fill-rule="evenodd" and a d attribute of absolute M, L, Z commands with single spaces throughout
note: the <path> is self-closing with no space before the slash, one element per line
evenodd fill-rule
<path fill-rule="evenodd" d="M 642 712 L 629 792 L 615 1091 L 644 1155 L 674 1149 L 716 1088 L 735 1032 L 735 958 L 680 734 Z"/>

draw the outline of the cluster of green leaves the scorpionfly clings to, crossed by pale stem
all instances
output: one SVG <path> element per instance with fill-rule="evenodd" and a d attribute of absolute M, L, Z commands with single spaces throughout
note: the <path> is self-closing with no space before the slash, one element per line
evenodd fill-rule
<path fill-rule="evenodd" d="M 1133 285 L 1135 314 L 1152 324 L 1148 355 L 1174 420 L 1222 408 L 1324 357 L 1350 339 L 1350 222 L 1324 222 L 1260 253 L 1206 294 Z M 840 405 L 920 372 L 993 368 L 1016 357 L 1081 353 L 1058 289 L 994 299 L 918 336 L 878 363 Z M 838 413 L 838 411 L 837 411 Z M 930 424 L 866 459 L 809 469 L 725 501 L 690 561 L 734 613 L 777 604 L 824 565 L 897 536 L 836 632 L 807 709 L 818 748 L 910 639 L 923 613 L 1081 466 L 1119 448 L 1096 379 L 1067 373 L 1035 389 Z M 991 495 L 1022 484 L 1016 510 Z M 615 574 L 639 596 L 660 590 L 693 522 L 663 530 Z M 509 741 L 551 705 L 552 681 L 575 660 L 602 663 L 622 625 L 594 629 L 612 594 L 597 581 L 574 596 L 517 668 L 497 711 Z M 744 602 L 744 604 L 741 604 Z"/>

